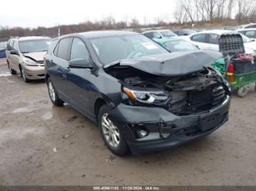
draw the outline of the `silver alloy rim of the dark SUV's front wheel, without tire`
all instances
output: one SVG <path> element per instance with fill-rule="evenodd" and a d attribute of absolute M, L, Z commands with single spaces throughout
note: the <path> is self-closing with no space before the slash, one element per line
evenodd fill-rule
<path fill-rule="evenodd" d="M 120 143 L 120 133 L 118 127 L 108 119 L 108 114 L 103 114 L 101 117 L 101 127 L 105 140 L 111 147 L 118 147 Z"/>

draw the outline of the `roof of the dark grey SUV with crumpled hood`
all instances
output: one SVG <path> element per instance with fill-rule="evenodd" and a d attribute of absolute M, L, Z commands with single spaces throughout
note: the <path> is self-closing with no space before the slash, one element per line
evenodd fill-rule
<path fill-rule="evenodd" d="M 75 34 L 71 34 L 75 35 Z M 108 36 L 116 36 L 116 35 L 138 35 L 137 32 L 134 31 L 86 31 L 76 33 L 76 35 L 81 35 L 85 38 L 98 38 L 98 37 L 108 37 Z"/>

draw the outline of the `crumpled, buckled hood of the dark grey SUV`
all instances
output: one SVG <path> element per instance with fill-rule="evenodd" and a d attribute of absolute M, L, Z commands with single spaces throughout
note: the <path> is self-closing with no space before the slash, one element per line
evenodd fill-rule
<path fill-rule="evenodd" d="M 201 71 L 204 67 L 209 67 L 221 57 L 222 54 L 218 51 L 182 51 L 125 59 L 107 64 L 104 68 L 110 68 L 115 65 L 130 66 L 149 74 L 179 76 Z"/>

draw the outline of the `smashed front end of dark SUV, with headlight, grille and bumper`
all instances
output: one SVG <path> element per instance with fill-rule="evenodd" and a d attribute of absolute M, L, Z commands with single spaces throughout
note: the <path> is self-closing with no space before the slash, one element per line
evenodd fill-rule
<path fill-rule="evenodd" d="M 228 120 L 230 87 L 211 67 L 170 76 L 125 64 L 105 71 L 122 84 L 123 103 L 109 117 L 124 131 L 133 153 L 174 147 Z"/>

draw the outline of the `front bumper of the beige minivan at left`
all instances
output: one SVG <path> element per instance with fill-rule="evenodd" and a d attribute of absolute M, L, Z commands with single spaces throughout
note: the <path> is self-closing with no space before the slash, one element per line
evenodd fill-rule
<path fill-rule="evenodd" d="M 22 68 L 24 69 L 28 80 L 45 79 L 45 66 L 28 66 L 22 64 Z"/>

